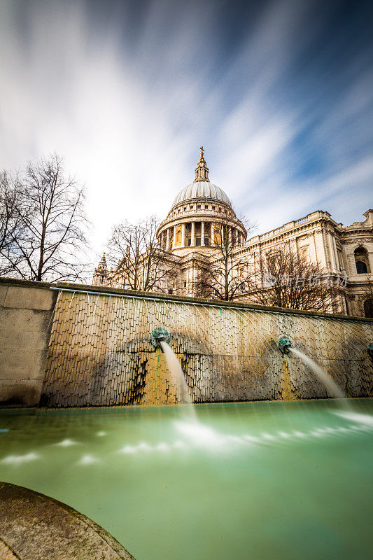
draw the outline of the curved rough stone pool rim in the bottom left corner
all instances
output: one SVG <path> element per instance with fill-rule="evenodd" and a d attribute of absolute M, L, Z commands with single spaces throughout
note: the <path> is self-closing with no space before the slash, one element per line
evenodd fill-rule
<path fill-rule="evenodd" d="M 0 559 L 134 560 L 134 556 L 73 507 L 0 482 Z"/>

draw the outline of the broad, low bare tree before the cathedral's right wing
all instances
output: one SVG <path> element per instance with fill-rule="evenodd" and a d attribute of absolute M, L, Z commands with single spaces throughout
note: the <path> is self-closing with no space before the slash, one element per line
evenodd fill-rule
<path fill-rule="evenodd" d="M 248 285 L 251 301 L 258 304 L 333 312 L 346 278 L 331 276 L 288 244 L 281 244 L 260 257 Z"/>

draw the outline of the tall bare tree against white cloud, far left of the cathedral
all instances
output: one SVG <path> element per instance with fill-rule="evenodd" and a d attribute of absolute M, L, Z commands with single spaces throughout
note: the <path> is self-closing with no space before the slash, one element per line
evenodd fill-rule
<path fill-rule="evenodd" d="M 64 173 L 57 154 L 29 163 L 17 180 L 17 225 L 1 249 L 1 259 L 16 276 L 31 280 L 77 280 L 86 270 L 87 218 L 83 187 Z"/>

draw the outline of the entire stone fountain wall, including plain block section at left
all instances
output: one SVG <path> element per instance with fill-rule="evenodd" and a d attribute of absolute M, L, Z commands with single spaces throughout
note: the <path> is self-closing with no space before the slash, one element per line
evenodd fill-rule
<path fill-rule="evenodd" d="M 164 355 L 149 342 L 157 327 L 171 334 L 194 402 L 328 397 L 300 360 L 279 352 L 282 335 L 349 396 L 373 395 L 369 319 L 2 280 L 0 321 L 3 405 L 178 402 Z"/>

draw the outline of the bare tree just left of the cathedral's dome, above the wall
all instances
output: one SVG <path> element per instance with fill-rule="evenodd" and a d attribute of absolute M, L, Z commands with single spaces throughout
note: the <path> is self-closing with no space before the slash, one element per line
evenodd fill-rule
<path fill-rule="evenodd" d="M 113 274 L 122 286 L 132 290 L 162 290 L 162 280 L 174 269 L 165 259 L 165 251 L 157 242 L 155 216 L 138 223 L 128 221 L 115 225 L 108 241 L 108 260 L 118 263 Z M 167 261 L 167 262 L 166 262 Z"/>

